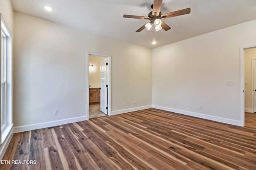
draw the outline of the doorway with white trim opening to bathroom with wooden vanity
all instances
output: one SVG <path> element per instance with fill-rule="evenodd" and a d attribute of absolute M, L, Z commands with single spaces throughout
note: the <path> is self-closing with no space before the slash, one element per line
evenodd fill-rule
<path fill-rule="evenodd" d="M 110 115 L 110 56 L 87 53 L 87 119 Z"/>

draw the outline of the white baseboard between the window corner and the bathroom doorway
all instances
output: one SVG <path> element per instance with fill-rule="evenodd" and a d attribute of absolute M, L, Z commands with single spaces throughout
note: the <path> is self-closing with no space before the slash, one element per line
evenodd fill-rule
<path fill-rule="evenodd" d="M 14 127 L 14 133 L 31 131 L 31 130 L 35 130 L 35 129 L 42 129 L 42 128 L 58 126 L 58 125 L 64 125 L 64 124 L 74 123 L 74 122 L 84 121 L 84 120 L 87 120 L 87 116 L 74 117 L 74 118 L 70 118 L 70 119 L 62 119 L 62 120 L 57 120 L 57 121 L 48 121 L 48 122 L 44 122 L 44 123 L 18 126 L 18 127 Z"/>

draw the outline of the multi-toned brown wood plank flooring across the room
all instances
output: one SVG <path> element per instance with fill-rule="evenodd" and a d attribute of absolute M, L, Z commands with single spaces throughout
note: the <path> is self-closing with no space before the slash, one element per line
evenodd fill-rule
<path fill-rule="evenodd" d="M 15 133 L 0 170 L 256 170 L 256 114 L 245 127 L 145 109 Z"/>

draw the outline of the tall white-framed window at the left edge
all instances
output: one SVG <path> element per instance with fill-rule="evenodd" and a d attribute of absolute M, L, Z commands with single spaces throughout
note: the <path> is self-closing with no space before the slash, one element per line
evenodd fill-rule
<path fill-rule="evenodd" d="M 2 20 L 0 13 L 1 29 L 1 90 L 0 90 L 0 111 L 1 131 L 0 144 L 4 143 L 12 130 L 12 37 L 8 27 Z"/>

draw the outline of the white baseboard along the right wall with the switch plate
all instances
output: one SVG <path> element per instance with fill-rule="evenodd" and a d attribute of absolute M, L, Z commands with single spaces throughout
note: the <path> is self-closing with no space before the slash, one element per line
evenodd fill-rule
<path fill-rule="evenodd" d="M 156 106 L 156 105 L 152 105 L 152 107 L 155 109 L 161 109 L 161 110 L 165 110 L 165 111 L 171 111 L 174 113 L 180 113 L 183 115 L 199 117 L 202 119 L 208 119 L 208 120 L 218 121 L 218 122 L 222 122 L 222 123 L 228 123 L 230 125 L 243 126 L 241 121 L 237 121 L 237 120 L 233 120 L 233 119 L 227 119 L 227 118 L 223 118 L 223 117 L 205 115 L 202 113 L 196 113 L 196 112 L 192 112 L 192 111 L 185 111 L 185 110 L 173 109 L 173 108 L 169 108 L 169 107 L 162 107 L 162 106 Z"/>

